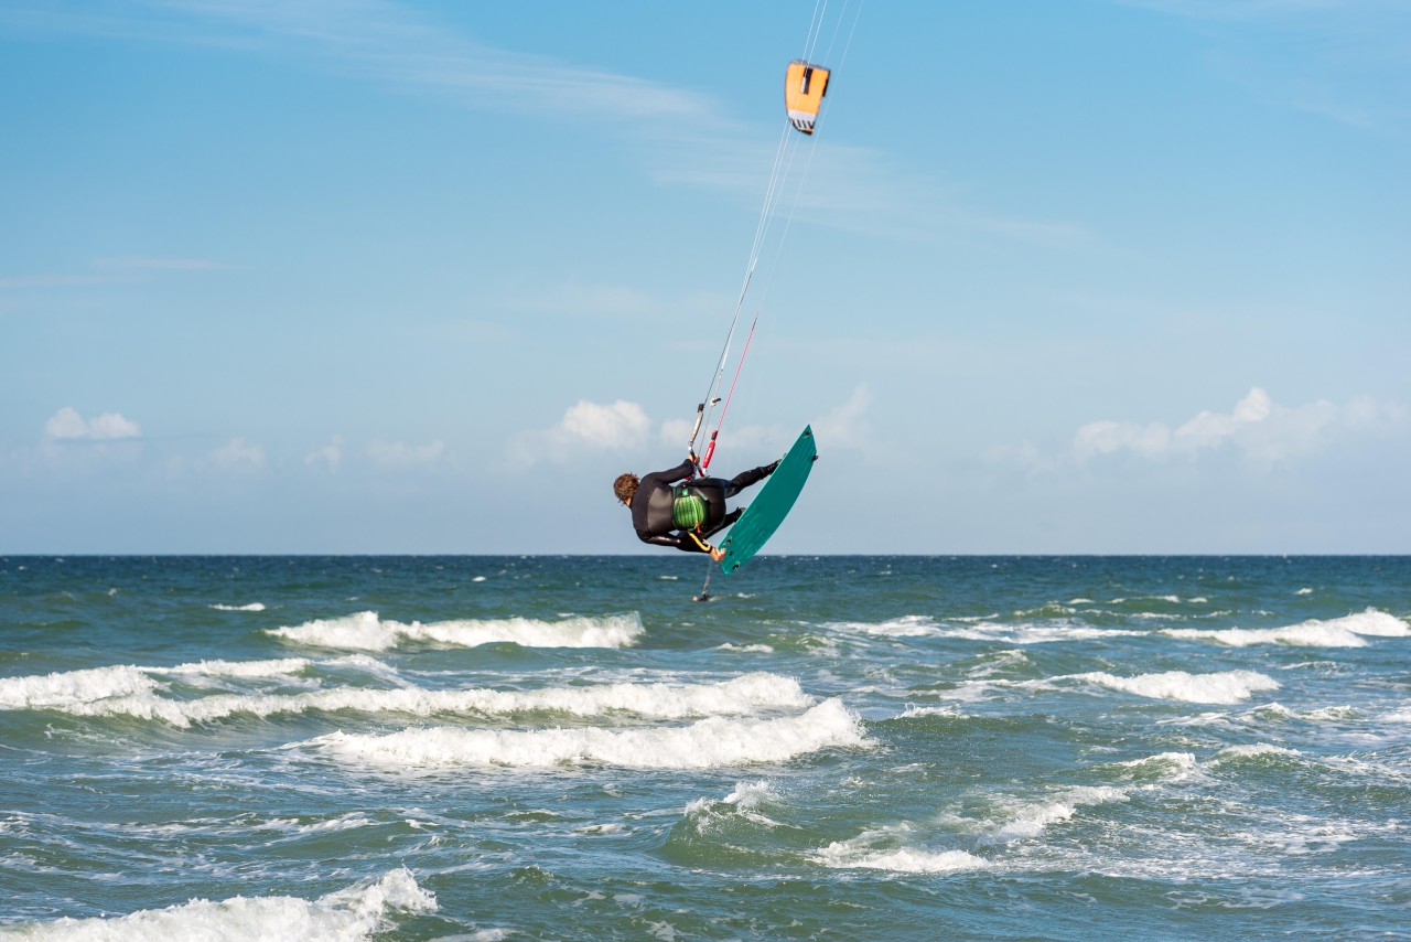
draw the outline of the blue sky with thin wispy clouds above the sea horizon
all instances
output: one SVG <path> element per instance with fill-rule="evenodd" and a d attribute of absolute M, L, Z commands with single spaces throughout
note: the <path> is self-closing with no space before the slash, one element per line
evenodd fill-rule
<path fill-rule="evenodd" d="M 1403 0 L 8 0 L 0 552 L 669 552 L 782 138 L 770 552 L 1411 552 Z"/>

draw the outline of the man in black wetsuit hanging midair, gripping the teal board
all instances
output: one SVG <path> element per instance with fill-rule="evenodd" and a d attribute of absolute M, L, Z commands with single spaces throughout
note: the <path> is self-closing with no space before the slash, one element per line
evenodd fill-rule
<path fill-rule="evenodd" d="M 744 507 L 727 513 L 725 499 L 769 477 L 777 466 L 779 462 L 753 467 L 729 480 L 697 477 L 673 487 L 696 470 L 696 455 L 691 453 L 676 467 L 653 472 L 641 480 L 636 475 L 618 475 L 612 493 L 632 510 L 632 528 L 642 542 L 676 547 L 684 552 L 708 552 L 711 559 L 720 562 L 725 551 L 713 547 L 710 538 L 745 513 Z"/>

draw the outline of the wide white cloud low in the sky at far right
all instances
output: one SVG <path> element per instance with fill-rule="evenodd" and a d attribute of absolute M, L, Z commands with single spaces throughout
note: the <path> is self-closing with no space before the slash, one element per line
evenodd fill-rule
<path fill-rule="evenodd" d="M 1367 397 L 1340 408 L 1326 400 L 1287 407 L 1254 387 L 1230 412 L 1201 411 L 1175 429 L 1163 422 L 1088 422 L 1074 435 L 1071 455 L 1078 463 L 1118 453 L 1161 462 L 1195 459 L 1228 446 L 1245 458 L 1274 463 L 1318 452 L 1339 434 L 1387 429 L 1404 419 L 1404 410 Z"/>

